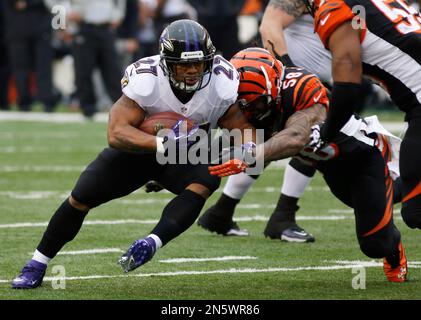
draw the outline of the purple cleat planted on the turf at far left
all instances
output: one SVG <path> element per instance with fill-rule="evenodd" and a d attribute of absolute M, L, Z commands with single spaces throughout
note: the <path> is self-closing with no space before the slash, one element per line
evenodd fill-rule
<path fill-rule="evenodd" d="M 31 260 L 22 269 L 21 274 L 13 279 L 13 289 L 34 289 L 41 285 L 47 265 Z"/>

